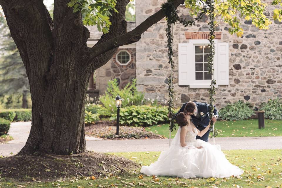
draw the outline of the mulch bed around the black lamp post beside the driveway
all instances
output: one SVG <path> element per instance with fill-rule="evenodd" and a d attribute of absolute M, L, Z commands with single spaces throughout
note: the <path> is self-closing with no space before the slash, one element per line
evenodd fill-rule
<path fill-rule="evenodd" d="M 85 135 L 103 139 L 163 139 L 165 137 L 146 131 L 144 127 L 119 126 L 119 135 L 115 135 L 117 127 L 113 121 L 99 121 L 85 126 Z"/>

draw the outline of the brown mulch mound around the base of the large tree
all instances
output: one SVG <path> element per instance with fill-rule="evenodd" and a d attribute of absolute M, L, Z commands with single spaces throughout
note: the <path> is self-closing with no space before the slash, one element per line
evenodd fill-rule
<path fill-rule="evenodd" d="M 4 178 L 21 181 L 55 181 L 134 173 L 140 164 L 114 155 L 85 152 L 73 155 L 14 155 L 0 158 Z"/>

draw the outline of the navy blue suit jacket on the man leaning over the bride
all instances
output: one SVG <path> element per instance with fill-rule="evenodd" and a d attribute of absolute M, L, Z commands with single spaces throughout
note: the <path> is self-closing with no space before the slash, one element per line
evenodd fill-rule
<path fill-rule="evenodd" d="M 210 118 L 209 118 L 209 105 L 207 103 L 199 103 L 199 102 L 193 102 L 193 103 L 195 103 L 195 105 L 198 108 L 198 114 L 200 114 L 202 112 L 203 115 L 200 115 L 200 118 L 197 118 L 196 116 L 191 115 L 192 122 L 194 123 L 194 125 L 196 127 L 198 127 L 198 126 L 207 127 L 209 125 L 209 121 L 210 121 Z M 184 108 L 185 108 L 186 104 L 187 103 L 184 103 L 182 105 L 182 107 L 177 112 L 177 114 L 179 114 L 180 112 L 184 112 Z M 216 110 L 215 106 L 214 106 L 214 115 L 218 116 L 218 111 Z"/>

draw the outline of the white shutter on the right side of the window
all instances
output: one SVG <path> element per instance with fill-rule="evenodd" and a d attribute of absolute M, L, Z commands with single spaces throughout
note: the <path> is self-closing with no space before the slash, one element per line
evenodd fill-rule
<path fill-rule="evenodd" d="M 229 43 L 217 43 L 217 85 L 229 85 Z"/>

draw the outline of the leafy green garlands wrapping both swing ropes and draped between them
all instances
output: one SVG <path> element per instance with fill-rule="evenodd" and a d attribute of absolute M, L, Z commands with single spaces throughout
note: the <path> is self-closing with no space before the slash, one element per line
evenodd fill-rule
<path fill-rule="evenodd" d="M 181 16 L 178 16 L 176 9 L 174 8 L 174 0 L 167 0 L 165 3 L 162 4 L 162 10 L 164 11 L 164 14 L 166 16 L 166 20 L 167 20 L 167 28 L 165 29 L 166 31 L 166 36 L 167 36 L 167 46 L 166 48 L 168 48 L 168 52 L 167 52 L 167 56 L 169 58 L 168 63 L 171 66 L 171 71 L 173 72 L 174 70 L 174 61 L 173 61 L 173 50 L 172 50 L 172 25 L 175 25 L 176 23 L 180 23 L 182 24 L 184 27 L 187 26 L 192 26 L 195 25 L 196 21 L 199 21 L 202 19 L 203 15 L 206 13 L 211 13 L 210 14 L 210 33 L 209 33 L 209 47 L 211 48 L 211 52 L 210 52 L 210 56 L 209 56 L 209 74 L 213 75 L 213 58 L 214 58 L 214 41 L 213 39 L 215 38 L 214 35 L 214 31 L 215 31 L 215 26 L 214 26 L 214 5 L 213 5 L 213 1 L 210 1 L 209 3 L 203 4 L 203 7 L 201 9 L 201 12 L 199 14 L 198 17 L 196 17 L 195 19 L 189 20 L 187 21 L 186 19 L 183 19 Z M 210 7 L 210 11 L 208 11 L 207 7 Z M 169 117 L 173 117 L 170 118 L 170 126 L 169 126 L 169 130 L 172 131 L 173 129 L 176 130 L 176 127 L 174 125 L 174 119 L 175 119 L 175 114 L 173 113 L 173 108 L 174 108 L 174 88 L 173 88 L 173 80 L 175 78 L 173 77 L 172 73 L 169 76 L 168 79 L 168 92 L 169 92 L 169 101 L 168 101 L 168 110 L 169 110 Z M 216 84 L 215 80 L 212 79 L 212 83 L 211 83 L 211 87 L 209 90 L 209 94 L 210 94 L 210 106 L 209 106 L 209 113 L 210 113 L 210 117 L 213 116 L 213 110 L 214 110 L 214 106 L 213 106 L 213 102 L 215 101 L 215 99 L 213 98 L 213 95 L 215 94 L 215 87 L 214 85 Z M 211 126 L 212 127 L 212 126 Z M 213 132 L 213 137 L 217 136 L 217 130 L 213 129 L 211 130 L 211 132 Z M 216 133 L 216 134 L 215 134 Z"/>

